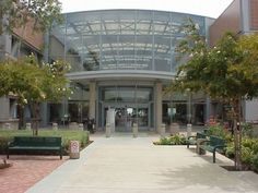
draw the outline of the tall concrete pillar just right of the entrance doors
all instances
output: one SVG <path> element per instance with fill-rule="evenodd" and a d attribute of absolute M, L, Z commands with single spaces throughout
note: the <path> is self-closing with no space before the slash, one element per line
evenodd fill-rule
<path fill-rule="evenodd" d="M 155 85 L 155 128 L 161 133 L 162 125 L 162 83 L 159 82 Z"/>

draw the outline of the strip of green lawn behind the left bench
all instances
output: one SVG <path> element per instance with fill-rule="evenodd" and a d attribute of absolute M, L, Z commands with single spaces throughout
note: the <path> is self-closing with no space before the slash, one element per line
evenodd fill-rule
<path fill-rule="evenodd" d="M 12 141 L 13 136 L 32 136 L 33 132 L 28 130 L 0 130 L 0 154 L 3 154 L 8 142 Z M 38 136 L 61 136 L 62 146 L 66 153 L 69 152 L 70 141 L 79 141 L 81 148 L 84 148 L 90 143 L 89 132 L 80 130 L 47 130 L 39 129 Z"/>

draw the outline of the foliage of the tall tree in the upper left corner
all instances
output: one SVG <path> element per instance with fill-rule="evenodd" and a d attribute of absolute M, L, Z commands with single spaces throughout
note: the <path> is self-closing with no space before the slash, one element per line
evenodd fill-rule
<path fill-rule="evenodd" d="M 33 19 L 34 28 L 45 32 L 52 22 L 60 22 L 59 0 L 0 0 L 0 35 L 25 26 Z"/>

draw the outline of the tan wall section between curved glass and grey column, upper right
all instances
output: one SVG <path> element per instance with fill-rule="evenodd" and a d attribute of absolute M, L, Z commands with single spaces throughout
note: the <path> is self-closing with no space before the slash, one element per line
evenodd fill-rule
<path fill-rule="evenodd" d="M 257 1 L 257 0 L 256 0 Z M 224 33 L 242 29 L 241 0 L 233 1 L 210 27 L 210 45 L 214 46 Z"/>

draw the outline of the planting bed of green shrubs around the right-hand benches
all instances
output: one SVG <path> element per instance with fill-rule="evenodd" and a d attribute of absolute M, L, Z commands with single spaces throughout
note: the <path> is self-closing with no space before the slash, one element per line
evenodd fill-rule
<path fill-rule="evenodd" d="M 249 123 L 242 124 L 242 170 L 253 170 L 258 172 L 258 137 L 255 132 L 255 128 Z M 227 131 L 220 123 L 214 123 L 209 125 L 206 130 L 208 136 L 218 136 L 223 138 L 226 143 L 226 147 L 222 152 L 224 156 L 234 160 L 235 157 L 235 146 L 233 134 Z M 168 137 L 161 137 L 160 141 L 153 142 L 154 145 L 186 145 L 186 136 L 176 134 Z M 223 166 L 224 169 L 235 170 L 233 166 Z"/>

